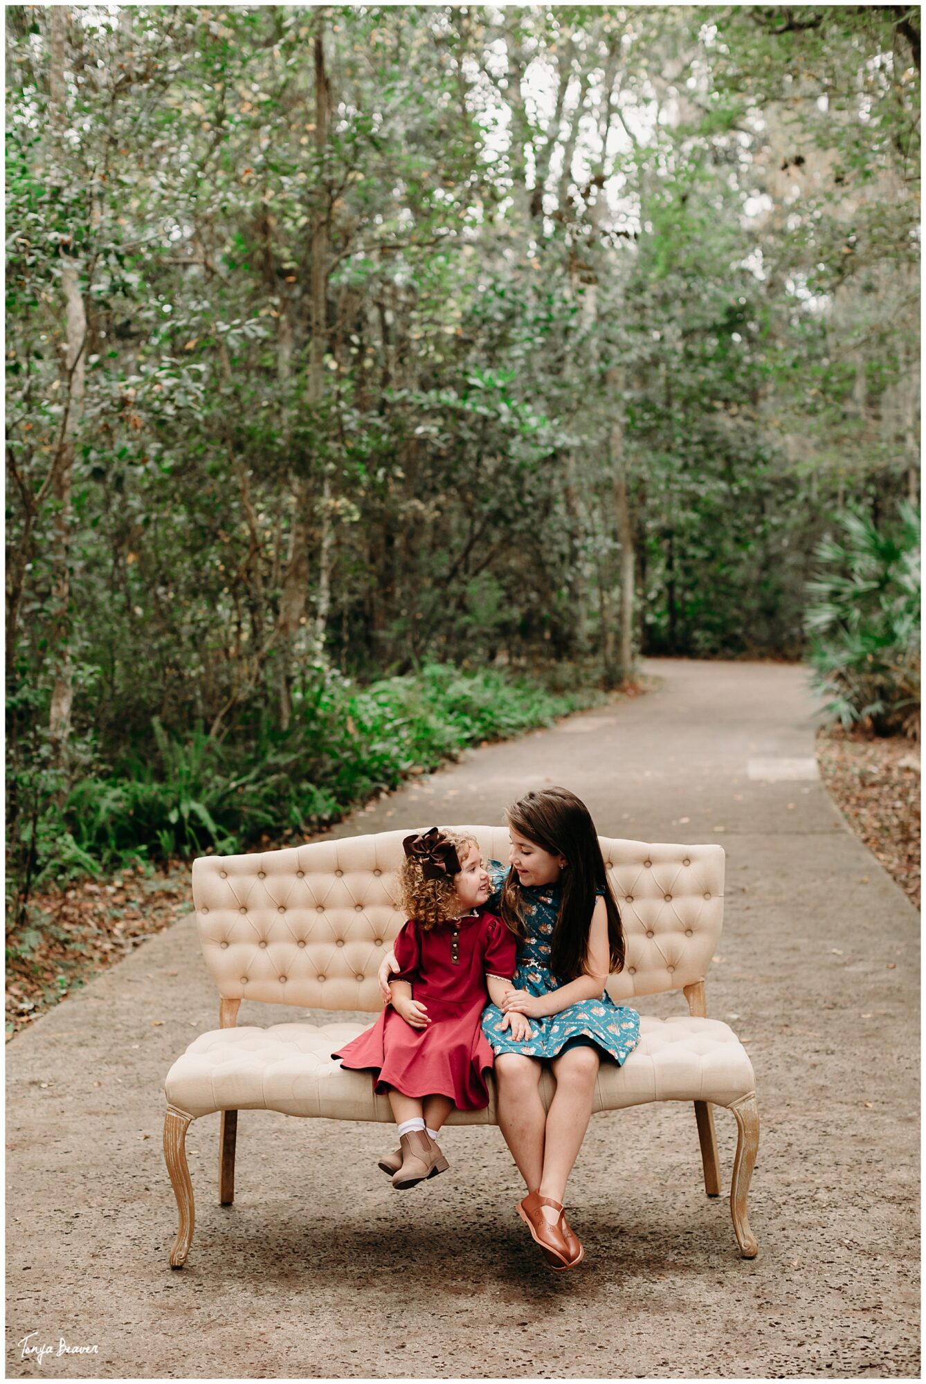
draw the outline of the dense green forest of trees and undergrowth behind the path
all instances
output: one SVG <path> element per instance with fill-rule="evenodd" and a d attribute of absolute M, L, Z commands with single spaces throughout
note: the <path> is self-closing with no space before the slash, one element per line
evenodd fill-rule
<path fill-rule="evenodd" d="M 915 731 L 918 8 L 6 18 L 14 958 L 641 652 Z"/>

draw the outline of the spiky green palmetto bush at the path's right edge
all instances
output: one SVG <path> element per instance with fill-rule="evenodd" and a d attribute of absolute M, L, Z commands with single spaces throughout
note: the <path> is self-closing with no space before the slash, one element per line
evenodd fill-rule
<path fill-rule="evenodd" d="M 920 702 L 919 515 L 896 523 L 840 516 L 839 537 L 817 547 L 824 570 L 808 583 L 810 662 L 832 721 L 878 735 L 915 735 Z"/>

